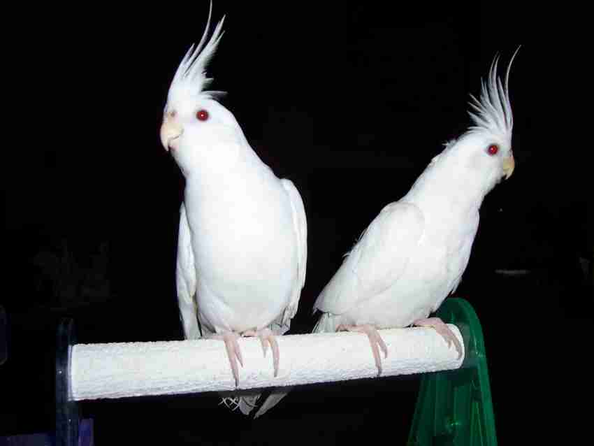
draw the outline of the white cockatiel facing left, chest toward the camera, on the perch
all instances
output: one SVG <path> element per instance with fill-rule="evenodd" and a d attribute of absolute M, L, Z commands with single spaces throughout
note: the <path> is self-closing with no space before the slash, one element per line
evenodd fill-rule
<path fill-rule="evenodd" d="M 277 375 L 275 335 L 289 329 L 297 311 L 307 223 L 293 183 L 259 159 L 233 114 L 215 100 L 219 92 L 205 90 L 211 80 L 205 66 L 224 20 L 207 43 L 210 12 L 200 43 L 171 82 L 161 142 L 185 177 L 176 274 L 184 334 L 224 340 L 237 385 L 239 336 L 258 336 L 265 355 L 270 344 Z M 239 399 L 249 412 L 254 398 Z"/>

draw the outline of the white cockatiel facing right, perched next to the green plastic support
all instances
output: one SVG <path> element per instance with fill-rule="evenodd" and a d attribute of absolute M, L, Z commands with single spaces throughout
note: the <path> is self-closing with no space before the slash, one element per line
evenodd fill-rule
<path fill-rule="evenodd" d="M 484 197 L 514 171 L 508 89 L 514 57 L 505 85 L 495 57 L 480 99 L 471 96 L 475 125 L 445 145 L 402 199 L 382 209 L 314 303 L 322 312 L 314 332 L 367 334 L 380 374 L 379 349 L 387 350 L 377 329 L 432 326 L 462 354 L 447 325 L 428 316 L 460 283 Z"/>

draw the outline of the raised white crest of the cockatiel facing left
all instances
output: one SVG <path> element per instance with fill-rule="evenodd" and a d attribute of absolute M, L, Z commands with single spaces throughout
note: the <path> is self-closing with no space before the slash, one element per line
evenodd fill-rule
<path fill-rule="evenodd" d="M 212 33 L 212 36 L 210 36 L 208 43 L 206 43 L 208 30 L 210 28 L 211 14 L 212 2 L 210 3 L 210 10 L 208 10 L 206 28 L 202 38 L 200 39 L 200 42 L 198 45 L 196 45 L 196 47 L 191 45 L 186 55 L 182 59 L 180 66 L 178 66 L 178 70 L 175 71 L 175 75 L 171 81 L 171 86 L 169 87 L 168 96 L 170 100 L 172 99 L 172 96 L 187 97 L 196 96 L 198 94 L 207 94 L 210 96 L 210 93 L 212 93 L 214 96 L 221 93 L 205 91 L 205 88 L 208 87 L 210 82 L 212 82 L 212 78 L 206 77 L 206 65 L 210 61 L 212 55 L 215 54 L 217 45 L 219 45 L 219 41 L 224 34 L 224 32 L 222 32 L 222 27 L 225 16 L 223 16 L 219 23 L 217 23 L 215 31 Z"/>

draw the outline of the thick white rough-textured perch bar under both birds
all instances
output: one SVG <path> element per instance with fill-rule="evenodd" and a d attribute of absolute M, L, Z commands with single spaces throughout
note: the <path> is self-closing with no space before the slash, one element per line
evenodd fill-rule
<path fill-rule="evenodd" d="M 449 324 L 460 340 L 460 331 Z M 463 357 L 434 329 L 381 330 L 388 347 L 382 376 L 459 368 Z M 367 336 L 316 333 L 277 337 L 280 368 L 273 376 L 270 352 L 263 357 L 258 338 L 238 340 L 243 367 L 239 388 L 289 386 L 377 376 Z M 71 351 L 71 398 L 188 394 L 236 389 L 224 343 L 183 340 L 152 343 L 78 344 Z"/>

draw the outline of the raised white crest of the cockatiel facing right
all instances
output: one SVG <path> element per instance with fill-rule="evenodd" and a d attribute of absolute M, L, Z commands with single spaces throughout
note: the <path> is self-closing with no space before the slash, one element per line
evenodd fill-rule
<path fill-rule="evenodd" d="M 470 131 L 489 131 L 511 137 L 514 116 L 512 115 L 512 104 L 509 101 L 509 70 L 512 69 L 512 62 L 520 48 L 518 47 L 509 61 L 505 84 L 502 84 L 497 75 L 499 55 L 496 55 L 491 64 L 488 78 L 481 82 L 480 100 L 472 94 L 470 95 L 472 99 L 470 106 L 474 111 L 470 111 L 469 114 L 475 123 L 470 127 Z"/>

